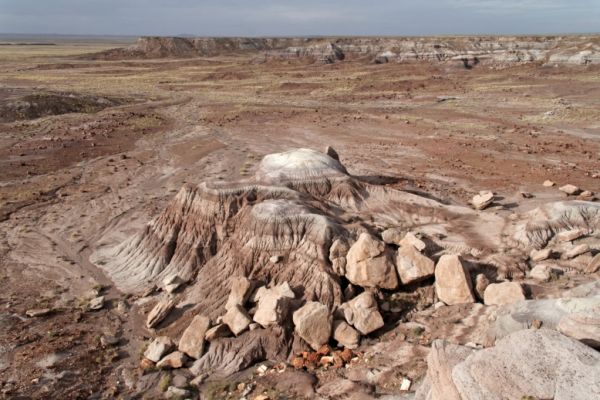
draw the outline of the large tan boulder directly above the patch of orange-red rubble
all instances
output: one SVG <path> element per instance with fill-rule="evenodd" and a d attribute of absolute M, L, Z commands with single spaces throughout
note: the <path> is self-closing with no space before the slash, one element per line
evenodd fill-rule
<path fill-rule="evenodd" d="M 293 315 L 295 330 L 315 350 L 331 337 L 332 316 L 326 305 L 317 301 L 306 303 Z"/>

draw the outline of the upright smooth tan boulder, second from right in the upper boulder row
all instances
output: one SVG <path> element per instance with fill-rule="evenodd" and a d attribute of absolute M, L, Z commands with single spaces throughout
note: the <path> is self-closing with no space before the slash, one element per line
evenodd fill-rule
<path fill-rule="evenodd" d="M 458 255 L 443 255 L 435 267 L 435 292 L 446 304 L 475 302 L 471 277 Z"/>

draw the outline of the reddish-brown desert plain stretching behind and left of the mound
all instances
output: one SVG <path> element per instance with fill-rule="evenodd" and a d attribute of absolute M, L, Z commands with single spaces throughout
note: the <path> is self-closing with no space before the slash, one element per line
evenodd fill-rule
<path fill-rule="evenodd" d="M 0 48 L 0 105 L 119 104 L 0 123 L 4 398 L 126 397 L 121 372 L 149 333 L 91 251 L 138 231 L 183 184 L 247 176 L 265 154 L 331 145 L 351 174 L 449 204 L 485 189 L 560 199 L 546 179 L 600 191 L 599 66 L 87 61 L 102 46 L 12 47 Z M 88 310 L 98 294 L 106 306 Z M 53 311 L 26 316 L 40 308 Z"/>

